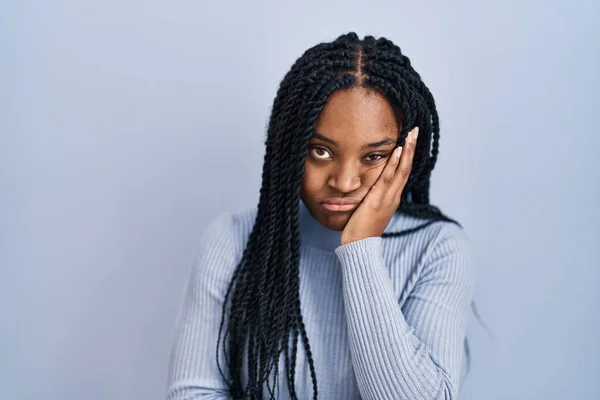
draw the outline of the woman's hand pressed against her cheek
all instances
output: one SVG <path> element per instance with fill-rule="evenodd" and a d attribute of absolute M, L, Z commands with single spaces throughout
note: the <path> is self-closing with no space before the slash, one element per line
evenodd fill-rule
<path fill-rule="evenodd" d="M 381 236 L 400 206 L 402 190 L 408 181 L 419 128 L 411 129 L 404 143 L 388 159 L 381 175 L 356 208 L 342 232 L 342 244 L 371 236 Z"/>

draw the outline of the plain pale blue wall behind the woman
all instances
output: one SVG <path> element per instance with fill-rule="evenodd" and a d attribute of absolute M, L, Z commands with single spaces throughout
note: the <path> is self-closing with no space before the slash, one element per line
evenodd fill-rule
<path fill-rule="evenodd" d="M 159 400 L 198 239 L 258 200 L 278 85 L 386 36 L 478 269 L 465 400 L 600 398 L 600 2 L 0 2 L 0 398 Z M 474 320 L 473 320 L 474 321 Z"/>

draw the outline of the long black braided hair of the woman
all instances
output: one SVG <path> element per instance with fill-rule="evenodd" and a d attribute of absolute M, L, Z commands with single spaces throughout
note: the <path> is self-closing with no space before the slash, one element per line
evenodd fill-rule
<path fill-rule="evenodd" d="M 403 122 L 398 125 L 399 145 L 412 127 L 419 127 L 411 174 L 397 212 L 424 222 L 382 236 L 408 235 L 435 221 L 458 224 L 429 203 L 439 118 L 433 95 L 408 57 L 386 38 L 361 40 L 354 32 L 305 51 L 283 78 L 273 102 L 256 221 L 223 302 L 217 364 L 234 399 L 261 399 L 265 384 L 274 399 L 282 355 L 290 396 L 297 399 L 294 377 L 299 340 L 306 351 L 313 399 L 317 399 L 317 376 L 300 312 L 300 188 L 319 113 L 336 90 L 356 86 L 379 91 L 390 100 L 396 118 Z M 221 345 L 229 377 L 219 362 Z"/>

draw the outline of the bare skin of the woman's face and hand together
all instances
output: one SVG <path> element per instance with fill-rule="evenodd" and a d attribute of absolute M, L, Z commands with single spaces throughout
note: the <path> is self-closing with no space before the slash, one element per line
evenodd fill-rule
<path fill-rule="evenodd" d="M 396 149 L 398 132 L 389 101 L 362 87 L 333 93 L 319 115 L 301 197 L 316 220 L 342 231 L 340 244 L 381 236 L 400 205 L 418 128 Z M 325 204 L 339 202 L 354 205 L 336 211 Z"/>

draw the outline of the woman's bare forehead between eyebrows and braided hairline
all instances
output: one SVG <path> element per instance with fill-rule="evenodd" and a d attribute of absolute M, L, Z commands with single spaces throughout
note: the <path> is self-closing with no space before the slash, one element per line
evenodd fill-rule
<path fill-rule="evenodd" d="M 345 144 L 398 136 L 396 116 L 389 100 L 362 87 L 334 92 L 317 119 L 317 131 Z"/>

